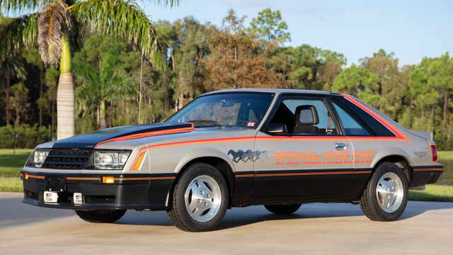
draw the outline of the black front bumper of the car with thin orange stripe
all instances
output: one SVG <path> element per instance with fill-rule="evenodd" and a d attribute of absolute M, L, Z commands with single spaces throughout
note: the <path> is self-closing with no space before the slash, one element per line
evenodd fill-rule
<path fill-rule="evenodd" d="M 72 210 L 166 210 L 176 178 L 173 174 L 108 174 L 114 183 L 102 183 L 103 176 L 23 170 L 23 203 Z M 57 203 L 45 202 L 44 191 L 57 192 Z M 74 193 L 82 194 L 82 204 L 74 203 Z"/>

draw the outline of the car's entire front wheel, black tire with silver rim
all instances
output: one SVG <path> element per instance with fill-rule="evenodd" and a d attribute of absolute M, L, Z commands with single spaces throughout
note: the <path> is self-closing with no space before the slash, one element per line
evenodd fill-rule
<path fill-rule="evenodd" d="M 193 164 L 178 179 L 167 215 L 184 231 L 210 231 L 222 221 L 228 197 L 226 181 L 214 166 Z"/>

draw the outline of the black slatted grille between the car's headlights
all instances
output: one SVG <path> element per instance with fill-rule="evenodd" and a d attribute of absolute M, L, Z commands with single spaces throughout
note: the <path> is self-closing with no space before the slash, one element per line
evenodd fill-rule
<path fill-rule="evenodd" d="M 91 149 L 51 149 L 42 168 L 83 169 L 92 153 Z"/>

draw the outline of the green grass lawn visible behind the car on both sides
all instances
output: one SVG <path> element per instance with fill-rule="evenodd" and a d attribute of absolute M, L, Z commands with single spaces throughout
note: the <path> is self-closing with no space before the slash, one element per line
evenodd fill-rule
<path fill-rule="evenodd" d="M 19 171 L 32 149 L 0 149 L 0 191 L 22 192 Z M 441 159 L 453 159 L 453 152 L 438 152 Z M 453 202 L 453 186 L 428 185 L 425 191 L 409 191 L 409 200 Z"/>

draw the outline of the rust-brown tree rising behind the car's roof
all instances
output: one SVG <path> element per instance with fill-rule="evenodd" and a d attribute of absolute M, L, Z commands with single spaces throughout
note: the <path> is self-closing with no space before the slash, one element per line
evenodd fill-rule
<path fill-rule="evenodd" d="M 241 19 L 231 18 L 231 13 L 226 18 L 229 26 L 223 30 L 212 27 L 207 38 L 211 52 L 201 60 L 206 71 L 205 90 L 281 86 L 282 76 L 271 66 L 267 45 L 246 30 L 231 33 L 234 29 L 230 26 L 241 26 Z"/>

